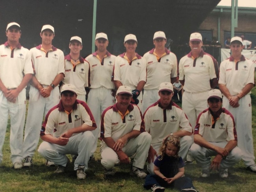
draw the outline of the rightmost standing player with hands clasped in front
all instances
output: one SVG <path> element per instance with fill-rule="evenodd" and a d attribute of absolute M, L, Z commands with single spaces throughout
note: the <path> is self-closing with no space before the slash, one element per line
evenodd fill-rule
<path fill-rule="evenodd" d="M 242 55 L 241 37 L 230 41 L 232 55 L 220 65 L 219 88 L 223 92 L 223 107 L 234 116 L 237 146 L 247 169 L 256 172 L 252 137 L 252 107 L 250 91 L 254 87 L 254 65 Z"/>

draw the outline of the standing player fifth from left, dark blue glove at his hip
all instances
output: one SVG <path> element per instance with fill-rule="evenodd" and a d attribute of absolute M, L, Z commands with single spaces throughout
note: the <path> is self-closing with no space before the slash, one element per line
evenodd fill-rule
<path fill-rule="evenodd" d="M 141 109 L 142 107 L 142 89 L 147 79 L 146 61 L 135 50 L 137 47 L 137 38 L 133 34 L 124 37 L 124 47 L 126 52 L 118 55 L 115 59 L 113 70 L 113 80 L 115 88 L 121 85 L 128 85 L 132 90 L 132 103 L 135 103 Z"/>

